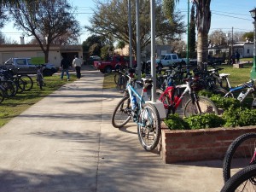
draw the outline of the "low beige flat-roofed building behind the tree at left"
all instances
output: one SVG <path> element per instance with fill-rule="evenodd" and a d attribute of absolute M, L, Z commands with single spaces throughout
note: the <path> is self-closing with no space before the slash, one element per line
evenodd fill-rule
<path fill-rule="evenodd" d="M 67 55 L 67 59 L 71 63 L 74 55 L 83 59 L 82 45 L 51 45 L 48 63 L 60 67 L 63 54 Z M 11 57 L 44 57 L 44 52 L 38 44 L 0 44 L 0 64 Z"/>

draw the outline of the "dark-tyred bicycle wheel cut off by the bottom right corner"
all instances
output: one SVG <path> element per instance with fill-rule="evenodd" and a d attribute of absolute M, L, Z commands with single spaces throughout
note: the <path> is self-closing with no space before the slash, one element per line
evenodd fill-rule
<path fill-rule="evenodd" d="M 236 172 L 221 189 L 221 192 L 234 191 L 256 191 L 256 165 L 247 166 L 240 172 Z"/>

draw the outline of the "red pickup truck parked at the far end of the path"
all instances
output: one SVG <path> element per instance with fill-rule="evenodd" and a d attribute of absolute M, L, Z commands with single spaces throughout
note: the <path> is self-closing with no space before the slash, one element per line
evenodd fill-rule
<path fill-rule="evenodd" d="M 113 55 L 109 61 L 94 61 L 93 65 L 102 73 L 111 73 L 120 67 L 128 67 L 130 64 L 130 56 Z M 137 66 L 137 61 L 132 61 L 132 67 Z"/>

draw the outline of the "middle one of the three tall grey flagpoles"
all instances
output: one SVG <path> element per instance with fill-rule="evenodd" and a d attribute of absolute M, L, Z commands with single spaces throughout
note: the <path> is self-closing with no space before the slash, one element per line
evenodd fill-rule
<path fill-rule="evenodd" d="M 136 21 L 137 21 L 137 79 L 141 79 L 142 67 L 141 67 L 141 35 L 140 35 L 140 17 L 139 17 L 139 0 L 136 0 Z"/>

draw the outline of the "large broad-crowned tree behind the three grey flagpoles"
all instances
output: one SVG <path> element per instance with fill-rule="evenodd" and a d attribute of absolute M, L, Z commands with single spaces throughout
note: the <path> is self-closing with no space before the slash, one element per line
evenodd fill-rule
<path fill-rule="evenodd" d="M 101 36 L 113 35 L 114 40 L 124 41 L 129 44 L 128 27 L 128 1 L 127 0 L 96 0 L 94 15 L 90 18 L 90 26 L 84 26 L 88 31 Z M 155 24 L 156 38 L 170 40 L 177 38 L 177 34 L 184 32 L 182 15 L 176 15 L 176 20 L 172 23 L 163 14 L 162 5 L 156 4 Z M 149 0 L 141 0 L 139 5 L 140 12 L 140 39 L 141 49 L 150 43 L 150 3 Z M 136 35 L 136 9 L 135 1 L 131 1 L 131 46 L 133 53 L 136 54 L 137 35 Z"/>

